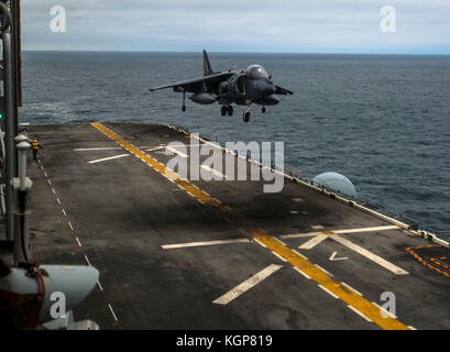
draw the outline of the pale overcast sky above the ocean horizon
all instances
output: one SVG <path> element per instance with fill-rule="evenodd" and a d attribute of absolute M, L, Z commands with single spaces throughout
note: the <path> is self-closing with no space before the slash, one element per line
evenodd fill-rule
<path fill-rule="evenodd" d="M 450 0 L 22 0 L 24 50 L 450 54 Z M 51 9 L 66 32 L 51 31 Z M 383 33 L 383 6 L 396 32 Z"/>

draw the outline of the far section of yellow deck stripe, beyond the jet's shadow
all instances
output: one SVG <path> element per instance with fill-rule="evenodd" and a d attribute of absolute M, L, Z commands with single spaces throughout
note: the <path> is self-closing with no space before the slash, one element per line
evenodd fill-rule
<path fill-rule="evenodd" d="M 119 145 L 124 147 L 127 151 L 140 157 L 144 163 L 152 166 L 155 170 L 157 170 L 158 173 L 163 174 L 167 178 L 175 182 L 179 188 L 183 188 L 184 190 L 188 191 L 194 197 L 200 199 L 207 205 L 219 208 L 222 211 L 230 211 L 229 207 L 223 206 L 217 199 L 208 196 L 205 191 L 200 190 L 198 187 L 195 187 L 187 179 L 182 178 L 178 174 L 174 173 L 172 169 L 166 167 L 164 164 L 160 163 L 157 160 L 151 157 L 150 155 L 147 155 L 146 153 L 144 153 L 143 151 L 141 151 L 133 144 L 128 143 L 125 140 L 120 138 L 118 134 L 116 134 L 114 132 L 106 128 L 105 125 L 100 123 L 92 123 L 92 125 L 97 128 L 98 130 L 100 130 L 101 132 L 103 132 L 106 135 L 108 135 L 111 140 L 116 141 Z"/>

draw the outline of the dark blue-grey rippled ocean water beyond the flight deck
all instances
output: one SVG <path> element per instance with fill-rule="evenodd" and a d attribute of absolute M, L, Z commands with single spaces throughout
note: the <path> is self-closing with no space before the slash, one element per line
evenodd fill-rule
<path fill-rule="evenodd" d="M 295 92 L 265 114 L 149 88 L 202 75 L 201 53 L 23 53 L 20 121 L 172 123 L 210 140 L 283 141 L 285 166 L 337 172 L 359 197 L 450 230 L 450 56 L 211 53 L 215 70 L 262 64 Z M 442 238 L 449 238 L 442 234 Z"/>

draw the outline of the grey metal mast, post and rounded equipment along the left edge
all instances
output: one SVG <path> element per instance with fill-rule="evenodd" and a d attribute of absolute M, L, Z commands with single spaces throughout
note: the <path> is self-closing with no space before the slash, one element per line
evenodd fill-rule
<path fill-rule="evenodd" d="M 37 323 L 43 329 L 98 329 L 91 320 L 75 322 L 72 308 L 92 290 L 99 272 L 90 265 L 40 267 L 32 261 L 29 223 L 33 183 L 26 177 L 31 140 L 18 134 L 18 107 L 22 100 L 19 0 L 0 0 L 0 197 L 6 230 L 4 239 L 0 239 L 0 329 L 34 329 Z M 9 265 L 6 257 L 11 256 Z M 70 309 L 56 319 L 52 314 L 54 294 L 63 297 L 63 306 Z M 54 320 L 44 323 L 48 319 Z"/>

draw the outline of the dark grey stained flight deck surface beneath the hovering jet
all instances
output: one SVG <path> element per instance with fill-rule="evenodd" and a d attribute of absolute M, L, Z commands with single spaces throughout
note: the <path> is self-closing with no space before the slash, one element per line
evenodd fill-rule
<path fill-rule="evenodd" d="M 105 125 L 139 147 L 189 143 L 166 127 Z M 389 226 L 303 185 L 286 179 L 282 193 L 264 194 L 263 182 L 193 182 L 230 207 L 233 215 L 229 216 L 199 202 L 134 155 L 88 163 L 130 154 L 121 147 L 75 151 L 119 146 L 90 124 L 31 125 L 26 133 L 44 146 L 40 164 L 31 156 L 29 161 L 34 183 L 34 258 L 46 264 L 86 264 L 86 255 L 100 271 L 103 290 L 96 287 L 77 307 L 77 320 L 92 319 L 101 329 L 381 329 L 260 245 L 242 229 L 245 222 L 281 237 L 289 249 L 371 302 L 383 305 L 382 293 L 394 293 L 396 316 L 405 326 L 450 328 L 450 278 L 406 251 L 430 244 L 407 231 L 340 234 L 408 272 L 397 275 L 331 239 L 310 250 L 298 246 L 312 237 L 283 239 L 293 233 Z M 164 148 L 145 153 L 163 164 L 172 157 Z M 162 249 L 230 239 L 249 242 Z M 449 256 L 448 250 L 413 251 L 449 273 L 447 258 L 441 265 L 430 261 Z M 331 261 L 333 253 L 343 260 Z M 282 267 L 229 304 L 212 302 L 272 264 Z"/>

